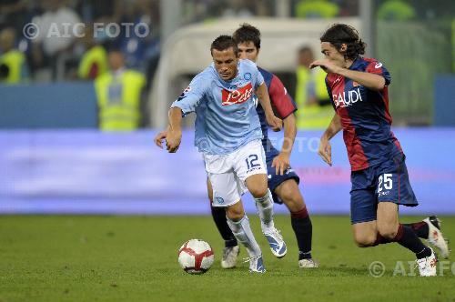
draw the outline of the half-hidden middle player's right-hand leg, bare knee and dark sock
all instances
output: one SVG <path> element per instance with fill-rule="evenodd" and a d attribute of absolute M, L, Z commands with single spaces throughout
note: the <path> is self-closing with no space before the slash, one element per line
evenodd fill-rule
<path fill-rule="evenodd" d="M 290 173 L 294 172 L 288 172 L 288 174 Z M 285 176 L 288 176 L 288 174 Z M 274 177 L 278 178 L 279 176 L 275 176 L 273 173 L 271 179 L 268 181 L 269 186 Z M 298 189 L 297 180 L 295 178 L 284 180 L 275 187 L 274 194 L 278 196 L 279 200 L 283 201 L 290 212 L 290 222 L 298 244 L 298 266 L 319 267 L 319 263 L 311 257 L 313 227 L 308 215 L 307 206 Z"/>

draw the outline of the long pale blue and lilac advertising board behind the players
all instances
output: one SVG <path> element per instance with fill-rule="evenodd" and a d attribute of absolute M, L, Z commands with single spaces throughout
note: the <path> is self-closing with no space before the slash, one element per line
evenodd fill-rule
<path fill-rule="evenodd" d="M 177 154 L 153 143 L 155 131 L 0 131 L 0 213 L 208 214 L 206 174 L 186 131 Z M 349 162 L 341 135 L 333 167 L 316 153 L 320 132 L 299 132 L 291 163 L 312 214 L 349 213 Z M 411 215 L 455 214 L 455 128 L 399 128 L 420 206 Z M 278 146 L 282 134 L 273 134 Z M 255 213 L 247 194 L 246 209 Z M 287 213 L 276 206 L 277 213 Z"/>

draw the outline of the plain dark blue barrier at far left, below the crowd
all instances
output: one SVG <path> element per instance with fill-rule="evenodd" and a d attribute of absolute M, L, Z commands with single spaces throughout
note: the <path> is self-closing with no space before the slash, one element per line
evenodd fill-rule
<path fill-rule="evenodd" d="M 0 85 L 0 129 L 96 127 L 93 83 Z"/>

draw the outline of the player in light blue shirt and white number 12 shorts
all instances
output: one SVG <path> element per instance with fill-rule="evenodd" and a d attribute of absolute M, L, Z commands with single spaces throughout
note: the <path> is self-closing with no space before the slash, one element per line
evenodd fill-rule
<path fill-rule="evenodd" d="M 262 252 L 240 199 L 247 189 L 255 198 L 262 232 L 272 253 L 284 257 L 287 247 L 273 222 L 266 156 L 253 94 L 258 96 L 274 130 L 281 128 L 281 120 L 273 114 L 258 67 L 238 59 L 238 45 L 231 36 L 218 36 L 210 52 L 213 64 L 195 76 L 172 104 L 169 126 L 155 137 L 155 143 L 162 147 L 162 139 L 166 139 L 167 151 L 176 152 L 182 137 L 182 116 L 196 113 L 195 145 L 212 183 L 213 206 L 225 207 L 228 226 L 247 248 L 249 270 L 264 273 Z"/>

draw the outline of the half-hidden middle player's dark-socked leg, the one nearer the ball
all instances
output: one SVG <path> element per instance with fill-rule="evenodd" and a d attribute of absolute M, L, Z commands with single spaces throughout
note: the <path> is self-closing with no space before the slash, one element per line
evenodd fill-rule
<path fill-rule="evenodd" d="M 210 180 L 207 178 L 207 194 L 210 200 L 210 209 L 212 218 L 217 226 L 218 232 L 225 240 L 225 247 L 223 248 L 223 257 L 221 258 L 221 267 L 232 268 L 237 265 L 237 257 L 240 249 L 238 248 L 237 239 L 232 234 L 232 230 L 227 225 L 226 211 L 223 207 L 213 206 L 213 189 Z"/>

